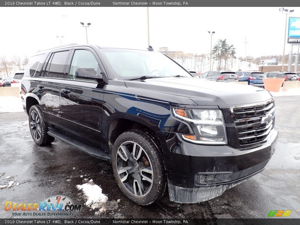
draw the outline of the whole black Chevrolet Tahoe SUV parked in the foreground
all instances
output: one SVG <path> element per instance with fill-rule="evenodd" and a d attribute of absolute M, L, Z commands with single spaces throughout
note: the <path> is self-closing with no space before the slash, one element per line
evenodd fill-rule
<path fill-rule="evenodd" d="M 112 162 L 133 202 L 206 201 L 261 172 L 275 151 L 264 89 L 192 75 L 147 50 L 68 45 L 32 56 L 22 104 L 33 140 Z"/>

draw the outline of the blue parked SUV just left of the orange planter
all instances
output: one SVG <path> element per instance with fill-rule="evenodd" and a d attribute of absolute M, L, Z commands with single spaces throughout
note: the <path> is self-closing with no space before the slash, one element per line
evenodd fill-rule
<path fill-rule="evenodd" d="M 259 71 L 237 71 L 235 72 L 238 76 L 238 81 L 248 82 L 248 85 L 253 85 L 257 87 L 264 87 L 263 78 L 266 78 L 264 73 Z"/>

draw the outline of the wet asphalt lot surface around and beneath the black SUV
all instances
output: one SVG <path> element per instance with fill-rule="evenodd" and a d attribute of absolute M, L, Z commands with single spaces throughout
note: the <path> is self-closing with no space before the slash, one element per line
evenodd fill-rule
<path fill-rule="evenodd" d="M 56 195 L 83 205 L 74 218 L 266 218 L 270 210 L 292 210 L 289 217 L 300 218 L 300 96 L 275 97 L 275 102 L 277 149 L 262 173 L 206 202 L 170 202 L 166 193 L 150 206 L 134 204 L 122 194 L 110 162 L 57 139 L 40 147 L 31 138 L 25 113 L 2 113 L 0 185 L 13 181 L 14 186 L 0 189 L 0 218 L 15 218 L 4 210 L 5 201 L 35 203 Z M 95 214 L 84 205 L 76 187 L 87 182 L 84 178 L 93 179 L 108 196 L 105 211 Z"/>

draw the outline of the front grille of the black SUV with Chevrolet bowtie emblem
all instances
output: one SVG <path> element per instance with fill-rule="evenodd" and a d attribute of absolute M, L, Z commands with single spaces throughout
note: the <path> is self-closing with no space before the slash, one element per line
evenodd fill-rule
<path fill-rule="evenodd" d="M 275 122 L 275 104 L 273 99 L 253 105 L 231 108 L 233 127 L 229 144 L 237 148 L 247 148 L 266 142 L 266 137 Z"/>

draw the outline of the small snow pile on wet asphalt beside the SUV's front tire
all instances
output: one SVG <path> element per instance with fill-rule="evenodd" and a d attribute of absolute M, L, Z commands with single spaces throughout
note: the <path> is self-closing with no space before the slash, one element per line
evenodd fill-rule
<path fill-rule="evenodd" d="M 93 183 L 93 180 L 89 180 L 88 183 L 76 186 L 78 190 L 82 190 L 84 197 L 87 199 L 85 205 L 92 209 L 98 209 L 99 212 L 105 211 L 105 203 L 107 202 L 107 196 L 102 193 L 101 187 Z"/>

